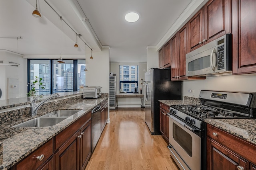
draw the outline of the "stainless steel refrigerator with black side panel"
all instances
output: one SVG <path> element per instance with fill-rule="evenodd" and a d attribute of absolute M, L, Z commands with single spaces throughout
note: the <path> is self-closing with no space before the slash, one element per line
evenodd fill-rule
<path fill-rule="evenodd" d="M 181 82 L 171 81 L 170 69 L 150 68 L 145 72 L 145 122 L 152 135 L 160 135 L 158 100 L 180 100 Z"/>

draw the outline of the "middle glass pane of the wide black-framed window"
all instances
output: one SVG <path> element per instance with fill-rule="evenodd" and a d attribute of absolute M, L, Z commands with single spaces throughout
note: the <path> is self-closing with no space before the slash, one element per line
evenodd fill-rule
<path fill-rule="evenodd" d="M 74 64 L 73 60 L 64 60 L 65 63 L 58 63 L 58 60 L 53 60 L 52 72 L 52 93 L 57 92 L 73 92 L 74 90 Z"/>

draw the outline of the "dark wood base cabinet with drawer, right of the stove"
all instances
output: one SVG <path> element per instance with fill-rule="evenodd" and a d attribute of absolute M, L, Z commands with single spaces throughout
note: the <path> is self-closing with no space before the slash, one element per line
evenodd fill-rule
<path fill-rule="evenodd" d="M 206 167 L 208 170 L 255 169 L 256 145 L 207 124 Z"/>

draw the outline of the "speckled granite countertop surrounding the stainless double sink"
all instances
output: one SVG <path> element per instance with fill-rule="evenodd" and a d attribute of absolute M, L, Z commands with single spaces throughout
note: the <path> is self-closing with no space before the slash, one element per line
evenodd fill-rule
<path fill-rule="evenodd" d="M 22 117 L 22 120 L 2 123 L 0 125 L 0 144 L 2 144 L 2 161 L 0 170 L 5 170 L 28 156 L 31 152 L 42 146 L 48 140 L 60 133 L 63 129 L 74 123 L 82 115 L 88 113 L 94 106 L 106 100 L 108 94 L 97 99 L 82 99 L 76 104 L 64 104 L 58 109 L 81 109 L 78 113 L 68 117 L 60 123 L 49 127 L 12 127 L 31 117 Z M 38 113 L 40 116 L 40 113 Z"/>

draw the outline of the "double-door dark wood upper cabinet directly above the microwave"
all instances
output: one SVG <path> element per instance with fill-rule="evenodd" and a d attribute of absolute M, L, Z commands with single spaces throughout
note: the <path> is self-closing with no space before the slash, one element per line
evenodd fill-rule
<path fill-rule="evenodd" d="M 209 0 L 188 21 L 188 52 L 230 31 L 231 0 Z"/>

